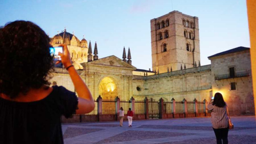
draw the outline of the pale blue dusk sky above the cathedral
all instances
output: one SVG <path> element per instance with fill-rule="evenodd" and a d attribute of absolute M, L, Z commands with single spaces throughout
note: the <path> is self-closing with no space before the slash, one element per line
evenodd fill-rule
<path fill-rule="evenodd" d="M 152 68 L 150 20 L 171 11 L 199 19 L 201 65 L 207 57 L 238 46 L 250 47 L 245 0 L 74 0 L 0 2 L 0 26 L 15 20 L 35 22 L 50 37 L 67 29 L 81 40 L 97 42 L 99 58 L 116 55 L 122 59 L 123 47 L 131 49 L 132 65 Z"/>

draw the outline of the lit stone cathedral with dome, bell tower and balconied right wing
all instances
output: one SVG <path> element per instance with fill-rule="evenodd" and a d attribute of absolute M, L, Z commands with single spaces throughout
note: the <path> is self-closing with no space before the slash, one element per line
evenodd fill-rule
<path fill-rule="evenodd" d="M 51 44 L 68 45 L 73 65 L 94 99 L 101 95 L 102 99 L 203 101 L 220 92 L 230 114 L 254 113 L 250 48 L 209 55 L 211 65 L 201 66 L 197 17 L 172 11 L 151 19 L 150 27 L 152 70 L 132 66 L 130 49 L 127 55 L 124 49 L 122 59 L 98 58 L 97 43 L 88 45 L 85 38 L 80 41 L 66 29 L 52 37 Z M 52 83 L 75 91 L 65 68 L 55 68 L 52 75 Z"/>

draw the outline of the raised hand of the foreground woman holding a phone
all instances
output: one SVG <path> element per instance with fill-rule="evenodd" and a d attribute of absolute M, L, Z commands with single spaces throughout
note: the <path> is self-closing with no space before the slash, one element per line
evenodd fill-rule
<path fill-rule="evenodd" d="M 68 66 L 72 65 L 71 59 L 70 59 L 70 54 L 68 51 L 68 47 L 66 44 L 60 44 L 60 47 L 62 47 L 63 53 L 59 52 L 59 55 L 61 57 L 61 62 L 67 68 Z M 56 64 L 60 63 L 60 61 L 57 61 Z"/>

